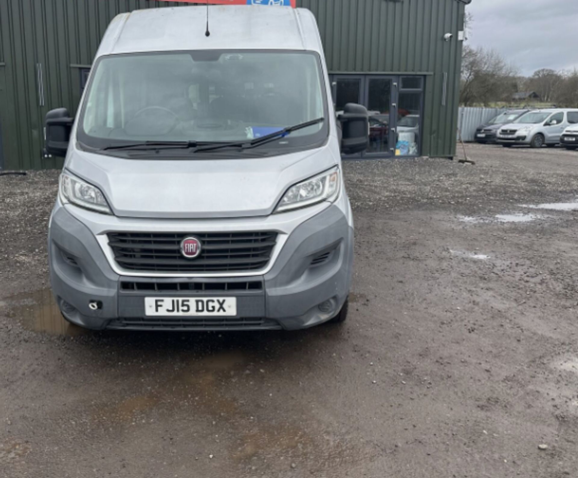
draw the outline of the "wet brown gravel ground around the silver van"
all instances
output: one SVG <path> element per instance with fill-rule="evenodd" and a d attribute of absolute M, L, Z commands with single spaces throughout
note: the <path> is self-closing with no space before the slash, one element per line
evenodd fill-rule
<path fill-rule="evenodd" d="M 344 166 L 350 317 L 297 333 L 66 326 L 58 172 L 0 177 L 0 474 L 577 477 L 578 153 L 466 148 Z"/>

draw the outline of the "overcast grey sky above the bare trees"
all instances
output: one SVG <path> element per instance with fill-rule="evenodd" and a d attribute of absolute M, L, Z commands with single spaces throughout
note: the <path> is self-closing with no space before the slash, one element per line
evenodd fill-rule
<path fill-rule="evenodd" d="M 472 0 L 469 44 L 498 50 L 532 75 L 578 69 L 578 0 Z"/>

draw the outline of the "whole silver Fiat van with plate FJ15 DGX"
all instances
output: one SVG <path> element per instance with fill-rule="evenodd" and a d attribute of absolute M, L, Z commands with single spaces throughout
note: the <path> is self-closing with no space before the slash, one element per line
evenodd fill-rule
<path fill-rule="evenodd" d="M 66 157 L 49 225 L 66 320 L 291 330 L 346 318 L 340 156 L 367 148 L 368 113 L 347 104 L 338 131 L 309 10 L 259 10 L 259 28 L 255 12 L 214 9 L 210 35 L 198 6 L 121 14 L 76 119 L 47 114 L 47 153 Z"/>

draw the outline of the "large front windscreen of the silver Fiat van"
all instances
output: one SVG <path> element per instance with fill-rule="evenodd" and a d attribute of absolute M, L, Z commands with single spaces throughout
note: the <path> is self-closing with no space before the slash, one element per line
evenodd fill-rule
<path fill-rule="evenodd" d="M 123 54 L 95 65 L 79 119 L 91 148 L 134 142 L 231 142 L 327 117 L 316 53 L 207 51 Z M 323 141 L 327 122 L 269 149 Z"/>

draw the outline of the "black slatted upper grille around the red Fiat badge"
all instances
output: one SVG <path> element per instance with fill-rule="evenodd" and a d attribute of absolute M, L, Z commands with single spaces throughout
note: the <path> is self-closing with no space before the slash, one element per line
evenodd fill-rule
<path fill-rule="evenodd" d="M 180 244 L 201 241 L 201 254 L 187 259 Z M 277 240 L 275 232 L 109 233 L 114 260 L 125 270 L 150 272 L 242 272 L 264 269 Z"/>

